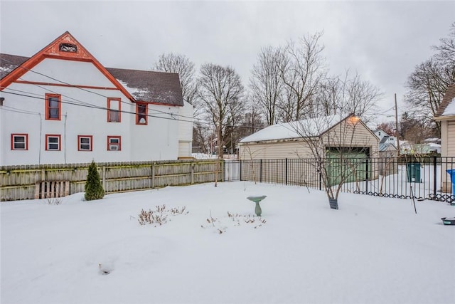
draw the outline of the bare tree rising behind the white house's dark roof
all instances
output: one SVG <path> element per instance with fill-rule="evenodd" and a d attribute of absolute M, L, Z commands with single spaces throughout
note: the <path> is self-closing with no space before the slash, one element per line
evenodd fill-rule
<path fill-rule="evenodd" d="M 155 70 L 162 70 L 169 73 L 178 73 L 182 88 L 183 99 L 193 104 L 196 97 L 196 79 L 194 77 L 194 63 L 185 55 L 161 54 L 154 65 Z"/>

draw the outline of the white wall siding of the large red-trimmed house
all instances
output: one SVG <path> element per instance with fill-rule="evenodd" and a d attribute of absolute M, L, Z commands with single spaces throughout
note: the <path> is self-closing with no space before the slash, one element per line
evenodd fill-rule
<path fill-rule="evenodd" d="M 114 87 L 91 63 L 46 59 L 33 70 L 73 85 Z M 22 78 L 53 82 L 31 72 Z M 31 97 L 6 94 L 14 92 L 9 89 L 21 90 Z M 61 120 L 45 120 L 45 93 L 61 95 Z M 1 96 L 5 100 L 4 106 L 0 106 L 0 165 L 79 163 L 92 159 L 129 162 L 178 157 L 176 117 L 180 107 L 149 105 L 149 115 L 154 117 L 149 117 L 148 125 L 136 125 L 136 105 L 117 89 L 80 90 L 60 85 L 38 87 L 12 83 Z M 121 122 L 107 122 L 107 98 L 121 98 Z M 28 150 L 11 150 L 11 134 L 16 133 L 28 134 Z M 45 135 L 60 135 L 61 150 L 46 151 Z M 78 151 L 77 135 L 92 136 L 92 151 Z M 122 138 L 121 151 L 107 150 L 107 136 Z"/>

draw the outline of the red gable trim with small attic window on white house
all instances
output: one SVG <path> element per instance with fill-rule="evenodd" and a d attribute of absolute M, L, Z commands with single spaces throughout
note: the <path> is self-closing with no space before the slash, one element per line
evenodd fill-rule
<path fill-rule="evenodd" d="M 60 43 L 70 43 L 77 46 L 77 52 L 65 52 L 59 51 Z M 105 75 L 107 79 L 122 93 L 127 96 L 131 101 L 134 101 L 134 97 L 121 85 L 117 79 L 112 76 L 102 64 L 97 61 L 95 57 L 90 54 L 87 49 L 85 49 L 82 44 L 79 43 L 68 31 L 65 31 L 62 35 L 56 38 L 54 41 L 45 46 L 41 51 L 35 55 L 28 58 L 24 63 L 19 65 L 17 68 L 11 71 L 8 75 L 0 80 L 0 91 L 8 87 L 14 81 L 18 80 L 23 74 L 27 73 L 28 70 L 31 70 L 38 63 L 43 61 L 45 58 L 55 58 L 61 60 L 71 60 L 71 61 L 86 61 L 91 62 L 95 67 L 100 70 L 100 72 Z"/>

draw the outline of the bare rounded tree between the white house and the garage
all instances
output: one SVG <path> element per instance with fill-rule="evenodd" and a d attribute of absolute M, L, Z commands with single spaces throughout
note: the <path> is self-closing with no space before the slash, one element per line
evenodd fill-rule
<path fill-rule="evenodd" d="M 205 63 L 200 67 L 198 98 L 217 128 L 218 157 L 223 157 L 223 134 L 229 118 L 241 114 L 243 85 L 234 69 Z"/>

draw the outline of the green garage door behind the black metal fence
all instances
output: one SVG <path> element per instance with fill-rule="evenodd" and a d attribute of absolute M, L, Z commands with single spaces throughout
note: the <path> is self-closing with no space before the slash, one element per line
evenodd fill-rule
<path fill-rule="evenodd" d="M 366 152 L 338 152 L 327 153 L 327 173 L 331 186 L 345 183 L 364 181 L 368 177 L 368 155 Z"/>

